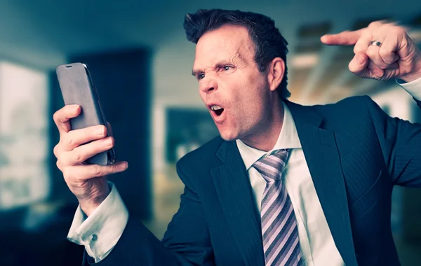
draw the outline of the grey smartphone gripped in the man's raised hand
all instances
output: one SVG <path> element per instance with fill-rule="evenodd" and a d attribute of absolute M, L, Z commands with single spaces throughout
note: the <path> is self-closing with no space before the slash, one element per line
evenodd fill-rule
<path fill-rule="evenodd" d="M 83 63 L 62 64 L 57 66 L 56 73 L 65 104 L 79 104 L 81 106 L 81 114 L 70 119 L 72 130 L 94 125 L 105 125 L 107 135 L 110 136 L 100 97 L 88 66 Z M 109 151 L 94 155 L 85 162 L 90 165 L 112 165 L 116 162 L 116 153 L 112 148 Z"/>

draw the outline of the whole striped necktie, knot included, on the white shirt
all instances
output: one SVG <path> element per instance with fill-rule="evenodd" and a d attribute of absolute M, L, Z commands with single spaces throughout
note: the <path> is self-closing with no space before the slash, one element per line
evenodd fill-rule
<path fill-rule="evenodd" d="M 253 164 L 266 181 L 260 211 L 266 266 L 295 266 L 301 260 L 297 221 L 282 183 L 288 152 L 288 149 L 277 150 Z"/>

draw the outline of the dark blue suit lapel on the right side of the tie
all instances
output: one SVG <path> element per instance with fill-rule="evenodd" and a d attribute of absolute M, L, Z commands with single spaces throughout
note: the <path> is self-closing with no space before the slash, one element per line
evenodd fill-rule
<path fill-rule="evenodd" d="M 347 266 L 357 265 L 347 204 L 347 191 L 335 134 L 309 108 L 286 101 L 335 245 Z"/>

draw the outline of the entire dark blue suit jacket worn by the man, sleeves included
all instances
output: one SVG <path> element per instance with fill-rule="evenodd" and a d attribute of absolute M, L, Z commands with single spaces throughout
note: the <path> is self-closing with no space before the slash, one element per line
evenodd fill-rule
<path fill-rule="evenodd" d="M 391 194 L 394 185 L 421 186 L 421 125 L 390 118 L 369 97 L 286 104 L 345 264 L 399 265 Z M 235 141 L 217 137 L 177 170 L 185 193 L 163 240 L 129 218 L 99 265 L 265 265 L 260 215 Z"/>

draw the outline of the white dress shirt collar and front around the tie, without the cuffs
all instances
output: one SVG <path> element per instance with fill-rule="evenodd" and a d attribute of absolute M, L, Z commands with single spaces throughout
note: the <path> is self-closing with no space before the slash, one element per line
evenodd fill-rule
<path fill-rule="evenodd" d="M 324 216 L 319 197 L 314 188 L 293 116 L 286 104 L 283 104 L 283 125 L 278 140 L 271 151 L 265 152 L 247 146 L 236 140 L 241 158 L 246 165 L 248 177 L 253 188 L 256 207 L 260 212 L 262 195 L 266 181 L 253 167 L 253 164 L 275 150 L 290 148 L 290 155 L 283 169 L 283 185 L 288 191 L 297 219 L 298 235 L 304 265 L 343 266 L 345 265 L 338 248 L 333 242 L 328 222 Z"/>

